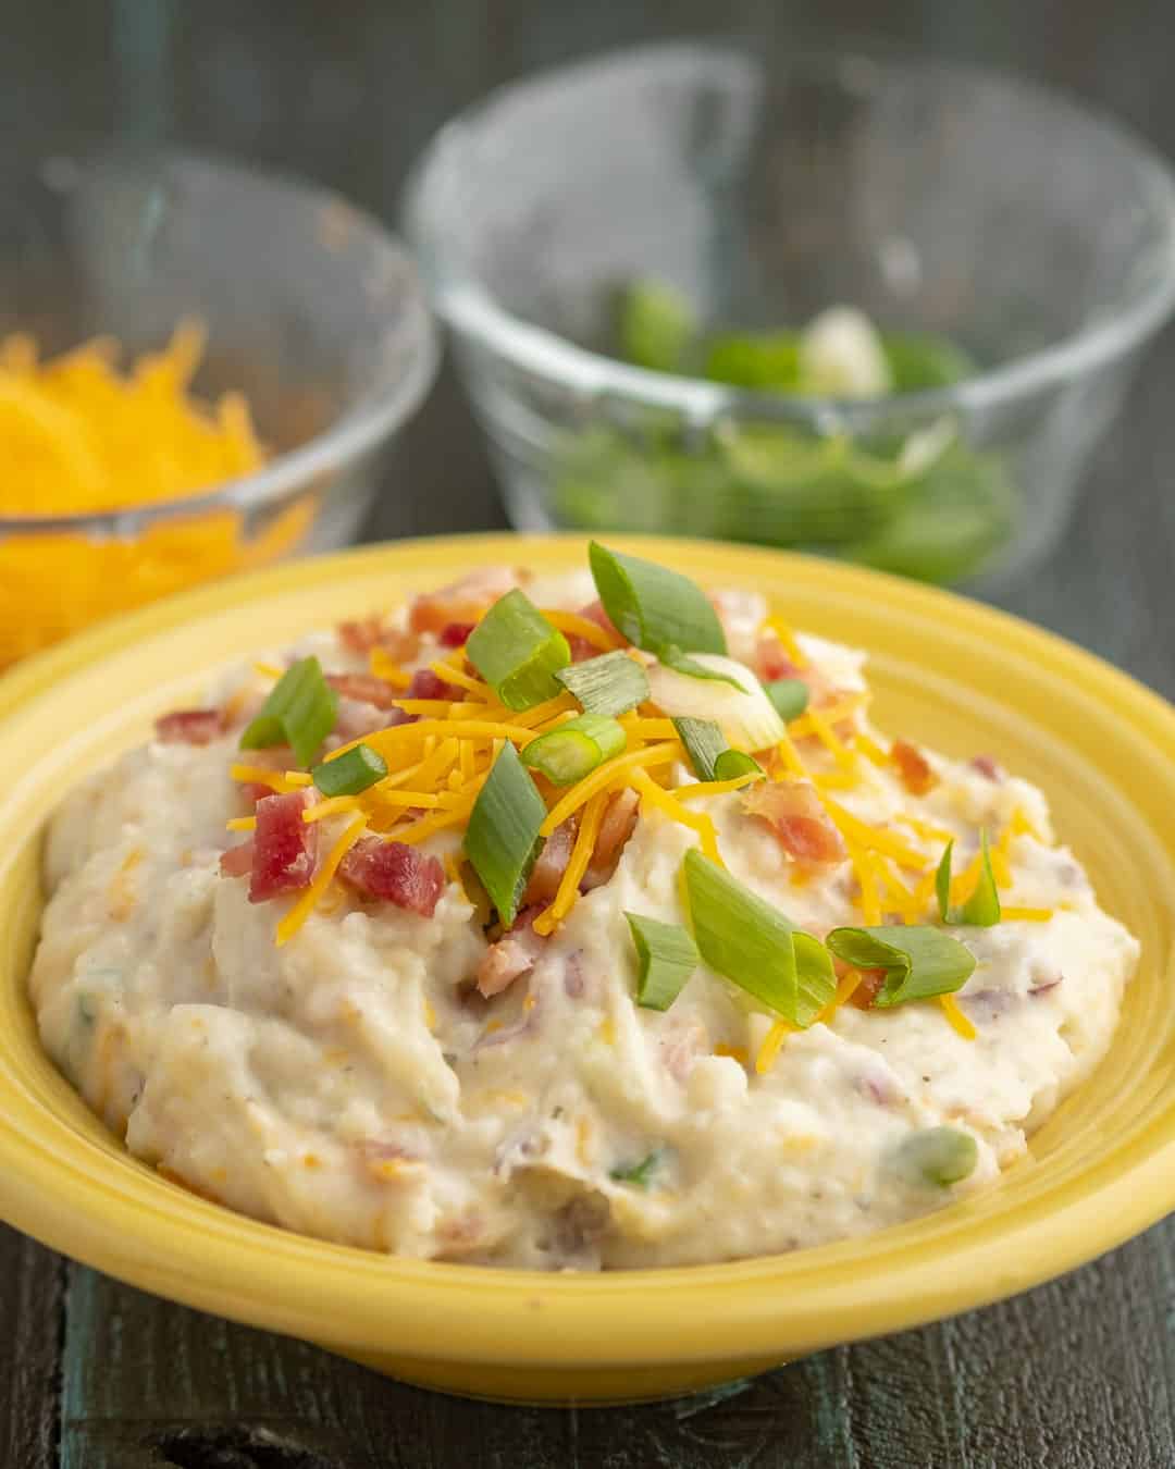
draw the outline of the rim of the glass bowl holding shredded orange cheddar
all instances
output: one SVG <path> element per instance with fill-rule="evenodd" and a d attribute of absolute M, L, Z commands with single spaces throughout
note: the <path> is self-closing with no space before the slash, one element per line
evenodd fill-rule
<path fill-rule="evenodd" d="M 248 160 L 225 159 L 191 148 L 166 144 L 140 144 L 134 140 L 70 134 L 47 145 L 34 163 L 21 167 L 28 176 L 53 165 L 69 162 L 116 163 L 145 167 L 197 169 L 214 179 L 238 184 L 264 184 L 303 206 L 345 210 L 348 223 L 361 232 L 382 257 L 400 270 L 407 291 L 397 308 L 397 320 L 385 329 L 385 344 L 404 344 L 407 372 L 392 378 L 386 372 L 372 376 L 363 397 L 345 405 L 317 433 L 294 448 L 269 458 L 251 474 L 220 480 L 207 489 L 173 499 L 115 505 L 109 510 L 62 516 L 0 516 L 0 541 L 9 536 L 81 535 L 97 539 L 137 539 L 150 526 L 209 514 L 216 510 L 250 511 L 307 485 L 319 474 L 336 469 L 379 444 L 405 423 L 424 400 L 441 363 L 436 323 L 427 304 L 419 264 L 404 241 L 375 214 L 352 204 L 336 190 L 326 188 L 285 169 L 260 167 Z M 13 170 L 15 172 L 15 170 Z"/>

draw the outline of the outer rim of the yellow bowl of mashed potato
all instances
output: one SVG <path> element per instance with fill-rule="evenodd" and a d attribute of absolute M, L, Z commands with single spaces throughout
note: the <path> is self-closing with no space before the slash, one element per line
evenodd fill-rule
<path fill-rule="evenodd" d="M 884 598 L 975 633 L 1072 677 L 1165 758 L 1175 708 L 1072 643 L 936 588 L 839 563 L 745 545 L 610 536 L 676 566 L 761 563 L 764 574 Z M 278 592 L 397 564 L 460 569 L 461 558 L 557 564 L 583 536 L 474 535 L 363 546 L 198 588 L 100 624 L 0 679 L 0 718 L 70 671 L 201 616 L 242 613 Z M 702 573 L 705 574 L 705 573 Z M 930 1257 L 903 1227 L 864 1241 L 724 1265 L 551 1275 L 383 1256 L 326 1244 L 206 1203 L 129 1163 L 128 1184 L 79 1140 L 38 1141 L 46 1109 L 0 1072 L 0 1210 L 46 1244 L 197 1309 L 355 1354 L 510 1360 L 545 1366 L 783 1359 L 953 1315 L 1053 1278 L 1121 1244 L 1175 1208 L 1175 1097 L 1144 1134 L 1110 1146 L 1077 1178 L 1025 1200 L 1006 1228 L 958 1222 Z M 34 1124 L 25 1130 L 21 1124 Z M 97 1166 L 94 1166 L 97 1162 Z M 118 1171 L 119 1174 L 122 1171 Z M 141 1185 L 141 1187 L 140 1187 Z M 940 1215 L 941 1218 L 941 1215 Z M 868 1269 L 861 1269 L 862 1247 Z"/>

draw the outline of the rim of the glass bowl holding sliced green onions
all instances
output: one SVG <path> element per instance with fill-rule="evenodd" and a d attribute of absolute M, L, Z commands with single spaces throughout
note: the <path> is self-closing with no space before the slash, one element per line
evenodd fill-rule
<path fill-rule="evenodd" d="M 853 432 L 868 429 L 894 411 L 911 416 L 959 410 L 968 414 L 981 413 L 1065 379 L 1075 379 L 1141 345 L 1175 308 L 1175 169 L 1157 148 L 1113 115 L 1071 97 L 1063 90 L 1016 72 L 919 54 L 884 43 L 853 44 L 846 48 L 800 46 L 787 56 L 783 71 L 843 79 L 853 69 L 858 73 L 865 69 L 893 75 L 914 68 L 925 73 L 956 76 L 978 87 L 994 87 L 1019 101 L 1049 107 L 1053 113 L 1069 113 L 1082 128 L 1099 132 L 1131 157 L 1140 172 L 1146 173 L 1152 209 L 1157 216 L 1165 216 L 1166 267 L 1157 272 L 1157 279 L 1140 294 L 1138 300 L 1069 332 L 1047 347 L 997 363 L 958 383 L 918 392 L 889 394 L 874 400 L 853 400 L 799 394 L 784 397 L 702 378 L 634 367 L 524 320 L 501 306 L 480 281 L 467 273 L 446 278 L 445 272 L 452 257 L 445 256 L 444 244 L 439 250 L 433 250 L 433 242 L 444 229 L 444 219 L 442 209 L 438 209 L 432 195 L 457 150 L 467 140 L 477 137 L 479 131 L 492 122 L 499 107 L 530 100 L 560 84 L 592 79 L 604 82 L 610 76 L 648 66 L 659 69 L 748 59 L 756 57 L 746 38 L 739 37 L 658 41 L 605 50 L 579 62 L 543 68 L 520 81 L 496 87 L 444 123 L 413 165 L 401 195 L 400 212 L 401 228 L 429 281 L 438 316 L 508 360 L 511 366 L 535 376 L 561 380 L 585 397 L 614 397 L 652 408 L 676 410 L 695 423 L 742 411 L 756 419 L 814 425 L 828 432 Z"/>

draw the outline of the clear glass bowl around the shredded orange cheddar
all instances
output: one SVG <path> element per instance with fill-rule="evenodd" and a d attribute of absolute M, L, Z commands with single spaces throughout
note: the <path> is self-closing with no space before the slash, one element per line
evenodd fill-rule
<path fill-rule="evenodd" d="M 48 355 L 104 333 L 125 363 L 195 317 L 194 394 L 242 392 L 272 457 L 184 499 L 0 516 L 0 667 L 107 613 L 352 539 L 436 370 L 405 250 L 335 194 L 172 153 L 63 147 L 3 184 L 0 335 Z"/>

